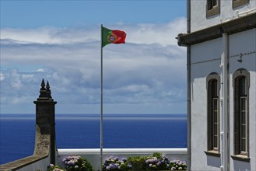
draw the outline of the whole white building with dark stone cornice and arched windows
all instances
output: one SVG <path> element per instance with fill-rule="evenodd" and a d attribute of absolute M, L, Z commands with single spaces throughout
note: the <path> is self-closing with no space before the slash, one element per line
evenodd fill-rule
<path fill-rule="evenodd" d="M 256 0 L 188 0 L 188 169 L 256 170 Z"/>

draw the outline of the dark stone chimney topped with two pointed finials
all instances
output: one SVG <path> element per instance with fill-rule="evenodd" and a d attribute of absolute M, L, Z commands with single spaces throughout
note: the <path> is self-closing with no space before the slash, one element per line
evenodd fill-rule
<path fill-rule="evenodd" d="M 51 98 L 49 82 L 41 83 L 40 95 L 36 104 L 36 141 L 33 155 L 50 155 L 50 162 L 55 164 L 55 104 Z"/>

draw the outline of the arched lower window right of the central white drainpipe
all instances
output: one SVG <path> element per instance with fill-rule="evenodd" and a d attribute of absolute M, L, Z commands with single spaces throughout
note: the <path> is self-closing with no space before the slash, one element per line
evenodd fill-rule
<path fill-rule="evenodd" d="M 234 155 L 233 159 L 249 157 L 249 86 L 250 74 L 245 69 L 233 74 Z"/>

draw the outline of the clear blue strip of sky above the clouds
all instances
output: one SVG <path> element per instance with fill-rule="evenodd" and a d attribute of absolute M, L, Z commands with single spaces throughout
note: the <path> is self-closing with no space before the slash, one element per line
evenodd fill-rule
<path fill-rule="evenodd" d="M 114 23 L 168 23 L 186 15 L 185 0 L 12 1 L 1 0 L 1 26 L 88 26 Z"/>

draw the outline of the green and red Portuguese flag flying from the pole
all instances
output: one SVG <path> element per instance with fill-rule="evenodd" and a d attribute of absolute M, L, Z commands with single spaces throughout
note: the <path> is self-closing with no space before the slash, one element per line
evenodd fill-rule
<path fill-rule="evenodd" d="M 125 44 L 126 33 L 121 30 L 109 30 L 101 27 L 101 47 L 107 44 Z"/>

